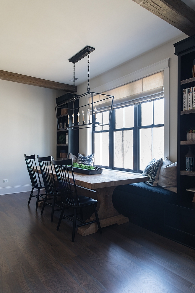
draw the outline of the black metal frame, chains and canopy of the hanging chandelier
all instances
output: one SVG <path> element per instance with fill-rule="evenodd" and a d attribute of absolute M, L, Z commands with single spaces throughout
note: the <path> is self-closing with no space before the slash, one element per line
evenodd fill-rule
<path fill-rule="evenodd" d="M 68 110 L 72 110 L 72 113 L 74 113 L 74 110 L 79 110 L 79 108 L 83 108 L 83 107 L 87 107 L 90 108 L 91 107 L 91 111 L 90 111 L 90 115 L 92 115 L 92 123 L 85 123 L 85 121 L 82 121 L 82 123 L 80 122 L 75 122 L 75 123 L 72 123 L 72 125 L 68 124 L 68 126 L 66 128 L 59 128 L 59 123 L 58 123 L 58 116 L 57 116 L 57 109 L 60 108 L 60 109 L 64 109 L 64 107 L 61 107 L 63 106 L 65 103 L 63 102 L 62 104 L 58 105 L 55 107 L 55 110 L 56 110 L 56 118 L 57 118 L 57 126 L 58 126 L 58 130 L 59 129 L 78 129 L 78 128 L 81 128 L 81 129 L 84 129 L 84 128 L 92 128 L 92 127 L 95 127 L 95 126 L 106 126 L 106 125 L 109 125 L 110 124 L 110 121 L 111 121 L 111 115 L 112 115 L 112 107 L 113 107 L 113 100 L 114 100 L 114 96 L 110 96 L 110 95 L 106 95 L 106 94 L 100 94 L 100 93 L 95 93 L 95 92 L 91 92 L 90 91 L 90 88 L 89 88 L 89 54 L 91 52 L 93 52 L 95 50 L 95 48 L 93 47 L 90 47 L 90 46 L 86 46 L 85 48 L 83 48 L 81 51 L 79 51 L 77 54 L 75 54 L 73 57 L 71 57 L 69 59 L 69 62 L 72 62 L 73 64 L 75 64 L 76 62 L 78 62 L 79 60 L 83 59 L 85 56 L 88 55 L 88 87 L 87 87 L 87 93 L 85 94 L 82 94 L 82 95 L 79 95 L 77 97 L 75 97 L 75 94 L 73 95 L 73 98 L 69 99 L 66 101 L 66 104 L 70 103 L 70 102 L 73 102 L 73 108 L 72 109 L 69 109 Z M 90 95 L 90 96 L 89 96 Z M 100 96 L 105 96 L 103 99 L 101 100 L 98 100 L 96 102 L 93 101 L 93 96 L 96 96 L 96 95 L 100 95 Z M 91 103 L 88 103 L 88 104 L 85 104 L 83 106 L 80 106 L 80 107 L 76 107 L 74 108 L 74 102 L 78 99 L 81 99 L 81 98 L 84 98 L 86 96 L 89 96 L 89 98 L 91 98 Z M 102 101 L 105 101 L 107 99 L 112 99 L 111 100 L 111 108 L 109 109 L 110 110 L 110 114 L 109 114 L 109 121 L 108 121 L 108 124 L 106 123 L 100 123 L 98 121 L 96 121 L 97 119 L 95 118 L 95 111 L 94 111 L 94 104 L 95 103 L 100 103 Z M 100 113 L 100 112 L 103 112 L 101 110 L 98 111 L 97 109 L 97 113 Z M 87 113 L 85 113 L 85 115 L 87 115 Z M 62 116 L 61 116 L 62 117 Z M 75 117 L 76 119 L 76 117 Z M 79 124 L 80 123 L 80 124 Z M 69 126 L 70 125 L 70 126 Z"/>

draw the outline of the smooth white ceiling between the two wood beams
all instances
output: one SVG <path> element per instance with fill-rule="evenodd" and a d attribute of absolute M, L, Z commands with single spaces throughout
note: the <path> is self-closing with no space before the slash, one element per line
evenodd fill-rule
<path fill-rule="evenodd" d="M 0 69 L 51 81 L 72 84 L 68 59 L 87 45 L 93 78 L 182 35 L 132 0 L 0 0 Z M 87 80 L 87 57 L 75 77 Z"/>

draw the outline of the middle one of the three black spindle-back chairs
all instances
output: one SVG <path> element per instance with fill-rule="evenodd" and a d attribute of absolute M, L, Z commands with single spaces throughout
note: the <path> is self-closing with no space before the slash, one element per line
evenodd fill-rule
<path fill-rule="evenodd" d="M 58 205 L 58 200 L 57 200 L 57 196 L 61 195 L 61 193 L 60 193 L 59 189 L 56 187 L 56 182 L 55 182 L 55 178 L 53 175 L 53 169 L 52 169 L 52 164 L 51 164 L 51 156 L 40 158 L 39 155 L 37 155 L 37 159 L 39 162 L 41 175 L 43 177 L 43 182 L 45 185 L 45 194 L 46 194 L 45 200 L 43 202 L 43 207 L 41 210 L 41 215 L 43 215 L 45 205 L 50 205 L 52 207 L 52 209 L 51 209 L 51 222 L 53 222 L 53 213 L 60 211 L 62 209 L 62 207 L 60 205 Z M 50 174 L 52 174 L 52 177 Z M 47 202 L 48 200 L 51 200 L 51 197 L 53 197 L 52 204 Z M 59 207 L 56 210 L 55 210 L 55 205 L 57 207 Z"/>

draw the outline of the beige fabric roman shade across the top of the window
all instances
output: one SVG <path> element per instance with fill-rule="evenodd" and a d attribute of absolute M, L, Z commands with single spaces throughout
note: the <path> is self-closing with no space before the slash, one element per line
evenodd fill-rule
<path fill-rule="evenodd" d="M 95 95 L 93 96 L 93 102 L 95 102 L 94 107 L 97 108 L 98 112 L 110 109 L 111 99 L 100 101 L 105 98 L 103 94 L 114 96 L 113 108 L 123 107 L 134 102 L 155 98 L 160 94 L 163 94 L 163 73 L 163 71 L 160 71 L 137 81 L 113 88 L 110 91 L 102 93 L 102 95 Z"/>

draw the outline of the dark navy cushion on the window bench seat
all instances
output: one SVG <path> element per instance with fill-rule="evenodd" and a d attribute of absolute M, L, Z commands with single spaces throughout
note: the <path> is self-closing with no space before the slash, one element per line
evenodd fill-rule
<path fill-rule="evenodd" d="M 171 202 L 177 198 L 175 192 L 166 190 L 160 186 L 149 186 L 145 182 L 120 185 L 116 187 L 116 190 L 150 197 L 164 202 Z"/>

